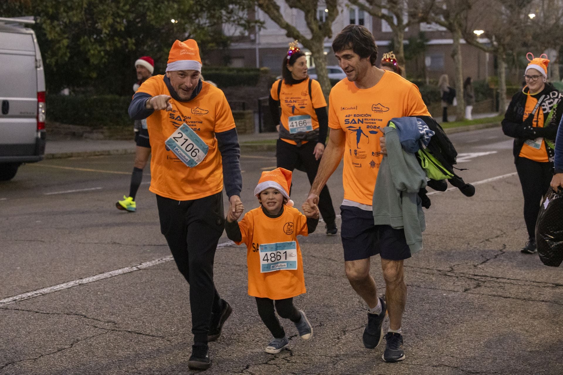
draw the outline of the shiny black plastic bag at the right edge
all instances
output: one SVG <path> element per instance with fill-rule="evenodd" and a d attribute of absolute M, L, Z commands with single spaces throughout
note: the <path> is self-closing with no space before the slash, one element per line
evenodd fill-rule
<path fill-rule="evenodd" d="M 535 223 L 535 241 L 543 264 L 558 267 L 563 261 L 563 192 L 551 188 L 543 199 Z"/>

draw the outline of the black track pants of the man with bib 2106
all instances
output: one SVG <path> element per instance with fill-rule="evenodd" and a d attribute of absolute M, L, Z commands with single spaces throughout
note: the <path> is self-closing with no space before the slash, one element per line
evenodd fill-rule
<path fill-rule="evenodd" d="M 213 284 L 213 260 L 225 228 L 222 193 L 191 201 L 157 195 L 157 206 L 160 231 L 166 237 L 178 270 L 190 284 L 194 341 L 207 342 L 211 312 L 221 306 Z"/>

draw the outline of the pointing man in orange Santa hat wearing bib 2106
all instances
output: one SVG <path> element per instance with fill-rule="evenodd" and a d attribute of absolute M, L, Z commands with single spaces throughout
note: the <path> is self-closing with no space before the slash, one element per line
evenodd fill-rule
<path fill-rule="evenodd" d="M 132 119 L 146 118 L 160 230 L 190 284 L 191 369 L 209 368 L 207 343 L 217 340 L 232 311 L 213 284 L 213 259 L 225 227 L 223 178 L 230 209 L 242 189 L 233 114 L 225 94 L 199 78 L 201 70 L 195 40 L 176 40 L 166 75 L 146 80 L 129 106 Z"/>

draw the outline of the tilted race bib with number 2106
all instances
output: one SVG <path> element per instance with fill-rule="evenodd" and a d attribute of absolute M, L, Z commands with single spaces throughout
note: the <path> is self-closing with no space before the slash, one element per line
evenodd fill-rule
<path fill-rule="evenodd" d="M 189 167 L 202 162 L 209 150 L 209 146 L 186 123 L 176 129 L 165 143 L 178 159 Z"/>

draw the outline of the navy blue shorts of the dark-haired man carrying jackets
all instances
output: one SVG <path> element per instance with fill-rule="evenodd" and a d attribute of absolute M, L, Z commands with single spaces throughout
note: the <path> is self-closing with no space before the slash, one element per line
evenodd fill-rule
<path fill-rule="evenodd" d="M 390 225 L 375 225 L 372 211 L 362 210 L 359 207 L 340 206 L 340 212 L 344 260 L 368 259 L 376 254 L 388 260 L 410 258 L 404 229 L 394 229 Z"/>

